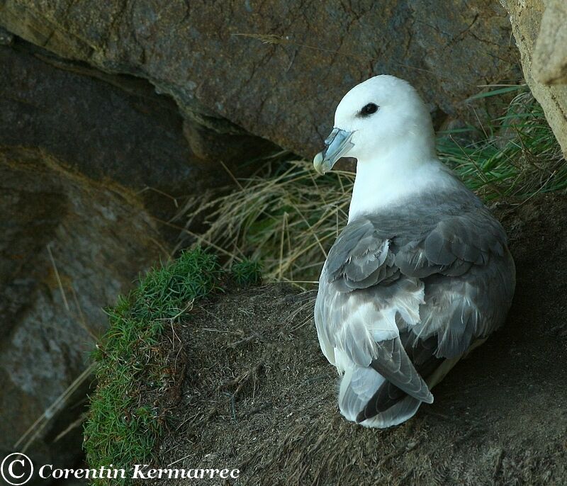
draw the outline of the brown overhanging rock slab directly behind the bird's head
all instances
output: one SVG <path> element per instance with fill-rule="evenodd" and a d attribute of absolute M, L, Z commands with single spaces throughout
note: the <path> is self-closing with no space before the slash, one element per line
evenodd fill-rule
<path fill-rule="evenodd" d="M 4 0 L 0 25 L 148 79 L 186 119 L 220 133 L 237 125 L 306 157 L 344 92 L 374 74 L 412 81 L 441 116 L 466 115 L 478 85 L 517 78 L 510 24 L 490 0 Z"/>

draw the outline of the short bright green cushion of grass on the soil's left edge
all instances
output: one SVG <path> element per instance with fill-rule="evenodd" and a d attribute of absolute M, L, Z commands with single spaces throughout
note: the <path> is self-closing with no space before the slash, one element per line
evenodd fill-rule
<path fill-rule="evenodd" d="M 84 431 L 90 468 L 113 464 L 129 471 L 147 463 L 162 434 L 164 417 L 140 403 L 140 385 L 167 388 L 167 373 L 155 346 L 194 300 L 218 288 L 222 271 L 214 255 L 200 248 L 152 269 L 135 290 L 107 310 L 110 327 L 94 352 L 98 387 L 91 397 Z M 130 480 L 95 480 L 128 485 Z"/>

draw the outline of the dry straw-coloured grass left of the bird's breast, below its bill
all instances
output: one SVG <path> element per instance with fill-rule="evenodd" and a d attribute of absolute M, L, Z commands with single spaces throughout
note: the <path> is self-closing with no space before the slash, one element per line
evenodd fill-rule
<path fill-rule="evenodd" d="M 320 177 L 302 160 L 285 167 L 240 181 L 237 191 L 201 202 L 189 216 L 208 214 L 200 241 L 223 248 L 229 261 L 249 256 L 262 261 L 268 281 L 308 285 L 347 220 L 354 174 Z"/>

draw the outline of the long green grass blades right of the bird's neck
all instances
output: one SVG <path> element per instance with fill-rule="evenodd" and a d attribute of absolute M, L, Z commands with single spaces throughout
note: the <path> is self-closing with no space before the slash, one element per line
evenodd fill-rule
<path fill-rule="evenodd" d="M 439 157 L 485 200 L 504 196 L 529 198 L 541 191 L 567 188 L 567 164 L 546 122 L 544 111 L 527 86 L 507 86 L 483 93 L 493 98 L 515 93 L 490 125 L 439 133 Z M 463 137 L 476 142 L 459 142 Z"/>

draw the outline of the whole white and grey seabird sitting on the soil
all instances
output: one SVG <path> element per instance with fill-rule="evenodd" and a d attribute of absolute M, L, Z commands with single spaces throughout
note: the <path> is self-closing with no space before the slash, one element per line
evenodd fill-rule
<path fill-rule="evenodd" d="M 322 268 L 315 324 L 364 426 L 412 417 L 459 358 L 500 327 L 515 288 L 506 234 L 444 166 L 415 89 L 376 76 L 342 98 L 315 156 L 357 159 L 349 220 Z"/>

